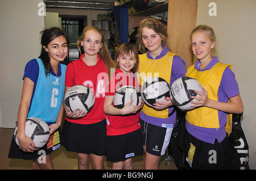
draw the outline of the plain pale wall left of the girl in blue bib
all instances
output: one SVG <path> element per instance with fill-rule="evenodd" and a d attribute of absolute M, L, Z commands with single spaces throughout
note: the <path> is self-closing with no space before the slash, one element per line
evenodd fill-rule
<path fill-rule="evenodd" d="M 0 1 L 0 127 L 14 128 L 26 63 L 40 54 L 42 0 Z"/>

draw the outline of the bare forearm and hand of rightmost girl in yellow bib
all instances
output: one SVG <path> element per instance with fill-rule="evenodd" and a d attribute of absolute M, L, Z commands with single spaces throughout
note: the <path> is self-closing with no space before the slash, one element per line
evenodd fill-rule
<path fill-rule="evenodd" d="M 204 94 L 200 91 L 195 91 L 200 96 L 191 96 L 193 99 L 197 99 L 198 101 L 191 101 L 191 103 L 195 104 L 191 107 L 200 107 L 206 106 L 210 108 L 214 108 L 219 111 L 228 112 L 228 113 L 242 113 L 243 112 L 243 103 L 240 95 L 233 96 L 229 98 L 228 103 L 218 102 L 216 100 L 212 100 L 208 98 L 207 90 L 202 87 Z"/>

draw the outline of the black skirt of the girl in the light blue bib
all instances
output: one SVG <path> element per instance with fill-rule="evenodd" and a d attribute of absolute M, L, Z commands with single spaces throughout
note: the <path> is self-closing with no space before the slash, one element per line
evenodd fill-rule
<path fill-rule="evenodd" d="M 26 160 L 37 159 L 40 156 L 44 156 L 52 153 L 52 151 L 60 148 L 61 142 L 61 128 L 57 129 L 57 131 L 49 137 L 49 140 L 46 145 L 44 145 L 41 149 L 34 151 L 33 153 L 27 153 L 19 149 L 19 146 L 16 144 L 14 137 L 11 140 L 11 146 L 8 158 L 21 158 Z M 42 151 L 43 150 L 43 151 Z"/>

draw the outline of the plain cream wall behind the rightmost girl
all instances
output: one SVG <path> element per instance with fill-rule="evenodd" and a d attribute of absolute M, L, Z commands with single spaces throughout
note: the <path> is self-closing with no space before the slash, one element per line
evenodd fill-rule
<path fill-rule="evenodd" d="M 210 2 L 216 3 L 216 16 L 210 16 Z M 256 169 L 256 1 L 199 0 L 197 25 L 207 24 L 217 36 L 216 54 L 224 64 L 232 64 L 240 87 L 244 112 L 242 128 L 249 144 L 250 169 Z"/>

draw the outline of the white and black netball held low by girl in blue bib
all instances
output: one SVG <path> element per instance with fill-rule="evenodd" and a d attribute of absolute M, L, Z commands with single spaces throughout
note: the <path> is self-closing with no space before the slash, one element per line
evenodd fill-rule
<path fill-rule="evenodd" d="M 18 125 L 14 130 L 14 140 L 19 146 L 19 140 L 16 137 L 17 130 Z M 37 117 L 28 117 L 25 125 L 25 134 L 34 142 L 35 148 L 40 149 L 49 140 L 49 127 L 42 119 Z"/>

